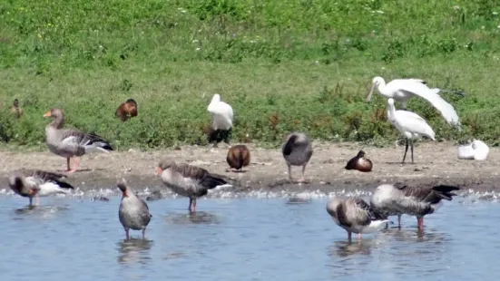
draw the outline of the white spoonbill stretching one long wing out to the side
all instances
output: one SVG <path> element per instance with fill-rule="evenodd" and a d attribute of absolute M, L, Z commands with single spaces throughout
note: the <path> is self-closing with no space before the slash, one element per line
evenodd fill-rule
<path fill-rule="evenodd" d="M 375 77 L 372 80 L 372 86 L 370 92 L 368 93 L 367 102 L 371 100 L 375 87 L 377 87 L 378 92 L 387 99 L 392 98 L 397 102 L 401 102 L 401 107 L 404 110 L 407 109 L 407 101 L 411 97 L 417 95 L 424 98 L 427 102 L 430 102 L 436 110 L 441 112 L 441 115 L 443 115 L 449 124 L 456 125 L 458 128 L 460 127 L 460 121 L 453 106 L 437 94 L 438 92 L 453 91 L 441 90 L 437 88 L 430 89 L 426 86 L 426 82 L 420 79 L 395 79 L 386 84 L 384 78 Z M 453 93 L 464 95 L 463 92 Z"/>

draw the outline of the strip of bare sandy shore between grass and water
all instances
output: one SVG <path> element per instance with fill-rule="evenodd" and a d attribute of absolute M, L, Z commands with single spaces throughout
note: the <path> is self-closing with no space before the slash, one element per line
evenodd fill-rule
<path fill-rule="evenodd" d="M 250 190 L 273 190 L 299 192 L 319 190 L 322 192 L 341 189 L 371 190 L 382 183 L 402 181 L 412 185 L 454 184 L 462 189 L 490 191 L 498 189 L 495 184 L 500 176 L 498 148 L 490 150 L 485 161 L 458 160 L 453 142 L 421 142 L 415 148 L 415 164 L 401 166 L 404 147 L 363 147 L 358 143 L 314 143 L 314 153 L 306 170 L 309 184 L 290 184 L 285 161 L 281 152 L 255 148 L 248 144 L 251 164 L 243 173 L 228 172 L 227 147 L 217 149 L 185 146 L 178 150 L 140 151 L 129 150 L 83 156 L 80 171 L 70 174 L 67 181 L 80 189 L 114 187 L 116 179 L 124 177 L 135 188 L 162 187 L 154 175 L 154 167 L 164 157 L 178 162 L 188 162 L 220 174 L 233 183 L 237 192 Z M 344 170 L 346 162 L 363 149 L 374 163 L 368 173 Z M 1 151 L 1 176 L 9 170 L 19 168 L 63 171 L 65 160 L 45 152 Z M 292 168 L 294 178 L 300 168 Z M 3 184 L 6 187 L 6 181 Z"/>

